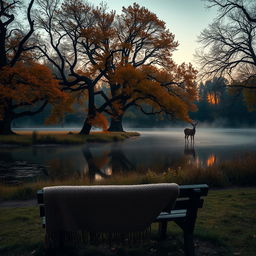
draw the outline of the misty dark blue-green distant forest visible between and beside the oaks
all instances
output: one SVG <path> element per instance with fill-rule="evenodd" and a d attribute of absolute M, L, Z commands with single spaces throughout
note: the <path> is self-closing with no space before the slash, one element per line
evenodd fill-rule
<path fill-rule="evenodd" d="M 100 98 L 96 104 L 100 104 Z M 85 103 L 86 104 L 86 103 Z M 214 127 L 250 127 L 254 126 L 256 111 L 248 110 L 242 88 L 229 88 L 223 78 L 215 78 L 201 83 L 198 88 L 198 110 L 190 113 L 193 120 L 200 124 Z M 74 105 L 74 112 L 63 118 L 60 127 L 80 127 L 84 121 L 84 107 Z M 50 113 L 50 106 L 33 117 L 24 117 L 13 122 L 14 128 L 41 127 Z M 124 116 L 124 126 L 131 128 L 172 127 L 184 125 L 180 121 L 168 120 L 166 116 L 145 115 L 135 107 L 131 107 Z M 56 125 L 53 125 L 56 126 Z"/>

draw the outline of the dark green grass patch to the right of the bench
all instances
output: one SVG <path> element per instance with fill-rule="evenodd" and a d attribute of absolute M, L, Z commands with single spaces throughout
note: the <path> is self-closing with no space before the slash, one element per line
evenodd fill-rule
<path fill-rule="evenodd" d="M 199 213 L 198 236 L 216 240 L 230 255 L 255 255 L 256 188 L 210 192 Z"/>

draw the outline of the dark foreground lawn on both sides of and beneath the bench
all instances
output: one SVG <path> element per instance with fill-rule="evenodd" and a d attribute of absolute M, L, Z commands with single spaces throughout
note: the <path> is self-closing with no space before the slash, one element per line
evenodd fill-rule
<path fill-rule="evenodd" d="M 256 188 L 210 191 L 197 219 L 197 255 L 255 255 L 255 202 Z M 1 208 L 0 255 L 44 255 L 44 230 L 38 215 L 37 207 Z M 153 226 L 154 234 L 156 230 Z M 168 230 L 166 242 L 115 251 L 90 247 L 79 255 L 184 255 L 181 231 L 174 223 Z"/>

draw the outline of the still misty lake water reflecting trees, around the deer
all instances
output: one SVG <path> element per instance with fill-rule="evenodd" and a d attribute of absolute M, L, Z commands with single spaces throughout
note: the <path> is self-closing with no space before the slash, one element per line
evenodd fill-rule
<path fill-rule="evenodd" d="M 194 145 L 185 143 L 183 128 L 136 131 L 140 137 L 124 142 L 2 147 L 0 182 L 19 184 L 69 177 L 100 180 L 120 173 L 211 166 L 256 152 L 256 129 L 198 128 Z"/>

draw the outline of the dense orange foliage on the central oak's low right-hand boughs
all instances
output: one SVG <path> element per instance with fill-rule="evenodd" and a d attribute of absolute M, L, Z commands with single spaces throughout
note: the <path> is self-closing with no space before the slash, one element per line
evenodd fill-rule
<path fill-rule="evenodd" d="M 195 111 L 194 79 L 196 71 L 191 65 L 174 66 L 172 72 L 154 66 L 120 66 L 112 76 L 112 83 L 122 84 L 120 94 L 128 97 L 127 104 L 149 105 L 153 112 L 170 114 L 175 118 L 191 121 L 188 111 Z M 183 87 L 179 83 L 186 81 Z M 170 84 L 168 84 L 171 81 Z M 168 84 L 168 85 L 166 85 Z"/>

